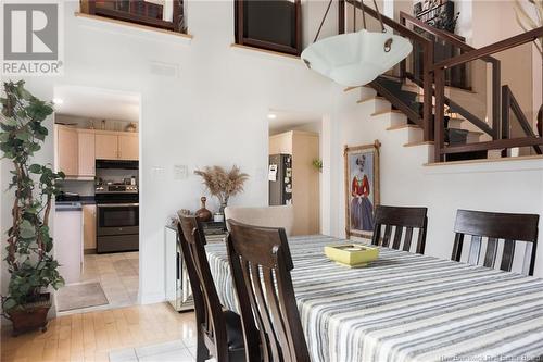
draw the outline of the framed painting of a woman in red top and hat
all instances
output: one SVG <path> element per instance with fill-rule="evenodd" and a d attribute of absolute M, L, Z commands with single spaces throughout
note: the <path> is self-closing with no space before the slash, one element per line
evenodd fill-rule
<path fill-rule="evenodd" d="M 375 207 L 379 204 L 379 149 L 381 143 L 348 147 L 345 167 L 345 235 L 371 238 Z"/>

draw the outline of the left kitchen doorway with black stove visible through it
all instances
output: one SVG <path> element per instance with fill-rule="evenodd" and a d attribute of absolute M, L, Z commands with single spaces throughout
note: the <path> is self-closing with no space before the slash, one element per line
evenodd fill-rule
<path fill-rule="evenodd" d="M 54 88 L 58 314 L 138 304 L 140 96 Z"/>

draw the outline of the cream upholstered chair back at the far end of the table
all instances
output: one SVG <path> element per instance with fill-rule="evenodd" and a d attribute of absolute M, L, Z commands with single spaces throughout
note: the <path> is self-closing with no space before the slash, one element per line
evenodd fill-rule
<path fill-rule="evenodd" d="M 294 209 L 292 205 L 264 208 L 227 207 L 225 209 L 225 217 L 226 220 L 237 220 L 248 225 L 282 227 L 287 236 L 292 235 L 292 227 L 294 226 Z M 229 227 L 228 223 L 226 226 Z"/>

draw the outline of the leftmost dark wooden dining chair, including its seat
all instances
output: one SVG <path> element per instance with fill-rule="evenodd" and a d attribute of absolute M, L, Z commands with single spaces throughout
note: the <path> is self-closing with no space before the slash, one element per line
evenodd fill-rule
<path fill-rule="evenodd" d="M 205 236 L 194 216 L 179 216 L 178 242 L 194 300 L 198 328 L 197 362 L 245 361 L 241 319 L 223 309 L 205 254 Z"/>

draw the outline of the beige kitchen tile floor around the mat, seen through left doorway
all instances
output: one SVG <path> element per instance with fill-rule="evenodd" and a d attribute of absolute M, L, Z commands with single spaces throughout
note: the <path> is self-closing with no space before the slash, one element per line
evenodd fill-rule
<path fill-rule="evenodd" d="M 109 304 L 65 311 L 59 315 L 135 305 L 138 303 L 139 252 L 86 254 L 80 282 L 100 282 Z"/>

